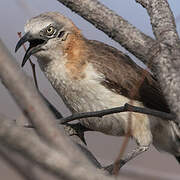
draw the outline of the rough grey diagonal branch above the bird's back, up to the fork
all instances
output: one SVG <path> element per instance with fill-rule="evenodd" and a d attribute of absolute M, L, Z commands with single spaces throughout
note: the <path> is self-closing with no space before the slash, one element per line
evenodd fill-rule
<path fill-rule="evenodd" d="M 148 55 L 156 43 L 128 21 L 97 0 L 58 0 L 95 27 L 119 42 L 129 52 L 148 64 Z"/>

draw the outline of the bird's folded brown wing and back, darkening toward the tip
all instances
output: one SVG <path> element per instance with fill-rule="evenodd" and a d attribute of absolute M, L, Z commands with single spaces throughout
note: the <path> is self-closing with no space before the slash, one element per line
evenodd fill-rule
<path fill-rule="evenodd" d="M 139 100 L 151 109 L 170 112 L 159 84 L 149 72 L 116 48 L 94 40 L 87 41 L 94 51 L 88 53 L 88 61 L 105 76 L 102 84 L 106 88 Z"/>

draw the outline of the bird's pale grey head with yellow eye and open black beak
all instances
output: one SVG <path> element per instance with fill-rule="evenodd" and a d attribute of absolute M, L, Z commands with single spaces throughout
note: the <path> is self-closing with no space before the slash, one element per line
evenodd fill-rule
<path fill-rule="evenodd" d="M 34 55 L 38 58 L 47 58 L 53 50 L 58 48 L 61 54 L 68 35 L 79 32 L 71 20 L 57 12 L 48 12 L 33 17 L 25 25 L 25 35 L 18 41 L 15 52 L 29 42 L 22 66 L 28 58 Z"/>

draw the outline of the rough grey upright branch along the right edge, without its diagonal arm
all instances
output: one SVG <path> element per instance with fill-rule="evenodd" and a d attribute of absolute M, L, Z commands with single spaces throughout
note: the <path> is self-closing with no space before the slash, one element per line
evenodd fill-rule
<path fill-rule="evenodd" d="M 137 0 L 151 17 L 159 52 L 153 58 L 157 77 L 172 111 L 180 117 L 180 41 L 166 0 Z"/>

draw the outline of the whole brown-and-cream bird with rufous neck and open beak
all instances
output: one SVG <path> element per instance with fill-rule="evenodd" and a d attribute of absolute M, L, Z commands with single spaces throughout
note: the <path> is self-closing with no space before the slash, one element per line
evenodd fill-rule
<path fill-rule="evenodd" d="M 15 48 L 17 51 L 29 42 L 22 66 L 31 55 L 35 56 L 40 69 L 72 113 L 99 111 L 125 103 L 171 112 L 152 73 L 116 48 L 87 39 L 59 12 L 35 16 L 27 21 L 24 29 L 25 34 Z M 132 96 L 134 91 L 137 92 Z M 125 136 L 128 117 L 128 112 L 121 112 L 79 121 L 94 131 Z M 132 112 L 131 137 L 137 147 L 124 162 L 147 151 L 153 144 L 158 150 L 175 156 L 180 163 L 180 130 L 174 121 Z"/>

